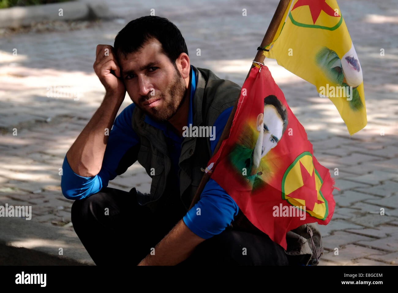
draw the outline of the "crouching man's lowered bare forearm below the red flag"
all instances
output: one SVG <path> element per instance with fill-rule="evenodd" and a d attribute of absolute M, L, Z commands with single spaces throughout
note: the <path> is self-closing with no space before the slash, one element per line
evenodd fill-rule
<path fill-rule="evenodd" d="M 186 260 L 205 239 L 194 234 L 183 220 L 156 246 L 155 254 L 148 254 L 138 265 L 176 265 Z"/>

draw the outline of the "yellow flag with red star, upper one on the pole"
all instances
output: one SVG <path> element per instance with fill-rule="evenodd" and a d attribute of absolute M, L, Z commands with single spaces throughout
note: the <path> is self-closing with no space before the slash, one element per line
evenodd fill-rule
<path fill-rule="evenodd" d="M 336 0 L 291 0 L 265 57 L 316 86 L 349 134 L 367 124 L 362 69 Z"/>

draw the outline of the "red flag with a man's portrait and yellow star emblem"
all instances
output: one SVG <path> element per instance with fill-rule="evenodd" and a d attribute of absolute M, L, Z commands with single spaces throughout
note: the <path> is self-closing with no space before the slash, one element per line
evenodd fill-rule
<path fill-rule="evenodd" d="M 334 181 L 266 66 L 251 69 L 230 135 L 207 170 L 248 220 L 285 250 L 288 231 L 332 218 Z"/>

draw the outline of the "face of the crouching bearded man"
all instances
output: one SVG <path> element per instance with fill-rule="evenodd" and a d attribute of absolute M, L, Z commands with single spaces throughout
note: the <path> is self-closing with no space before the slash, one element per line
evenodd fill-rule
<path fill-rule="evenodd" d="M 160 122 L 176 114 L 187 90 L 186 83 L 170 59 L 161 53 L 162 44 L 150 39 L 144 47 L 119 65 L 127 93 L 134 104 Z"/>

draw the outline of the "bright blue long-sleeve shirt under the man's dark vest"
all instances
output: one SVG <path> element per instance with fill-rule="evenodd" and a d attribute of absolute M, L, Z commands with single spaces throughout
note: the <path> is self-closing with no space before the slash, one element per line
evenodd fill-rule
<path fill-rule="evenodd" d="M 195 88 L 195 73 L 191 66 L 191 98 L 189 100 L 187 126 L 192 124 L 192 99 L 195 94 Z M 103 187 L 106 187 L 108 182 L 118 175 L 116 170 L 122 157 L 131 147 L 140 143 L 139 137 L 133 131 L 131 125 L 134 108 L 135 104 L 130 104 L 116 117 L 109 134 L 101 170 L 96 176 L 82 177 L 77 175 L 70 168 L 65 156 L 62 164 L 63 175 L 61 179 L 61 189 L 62 194 L 67 199 L 84 199 L 93 195 L 99 192 Z M 215 121 L 215 140 L 210 140 L 212 152 L 219 141 L 231 110 L 232 107 L 224 110 Z M 168 149 L 170 150 L 169 155 L 173 163 L 173 168 L 176 175 L 178 175 L 178 160 L 184 138 L 180 138 L 172 132 L 167 123 L 155 122 L 150 119 L 149 116 L 146 116 L 145 122 L 163 130 L 168 145 L 170 146 Z M 187 214 L 185 214 L 183 221 L 189 230 L 197 236 L 208 239 L 224 231 L 226 226 L 232 222 L 234 216 L 238 214 L 238 211 L 239 208 L 235 201 L 217 184 L 217 182 L 210 179 L 201 193 L 200 200 L 187 212 Z"/>

